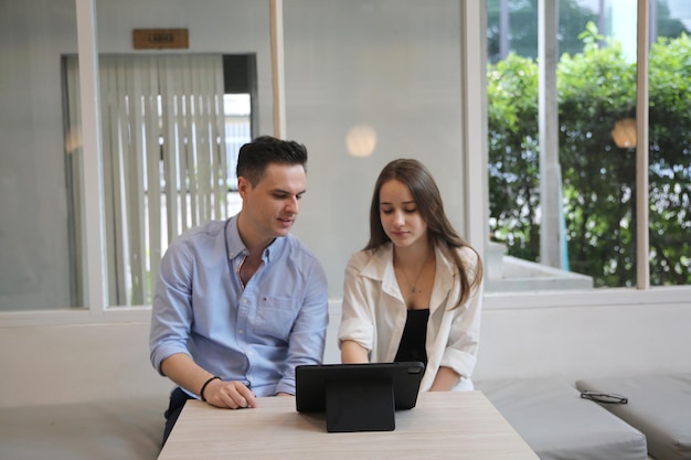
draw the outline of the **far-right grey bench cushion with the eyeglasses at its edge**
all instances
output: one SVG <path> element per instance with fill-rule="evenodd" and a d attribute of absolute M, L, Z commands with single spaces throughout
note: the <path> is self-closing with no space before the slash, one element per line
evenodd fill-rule
<path fill-rule="evenodd" d="M 691 459 L 691 374 L 588 378 L 581 391 L 618 393 L 627 404 L 600 404 L 646 435 L 657 460 Z"/>

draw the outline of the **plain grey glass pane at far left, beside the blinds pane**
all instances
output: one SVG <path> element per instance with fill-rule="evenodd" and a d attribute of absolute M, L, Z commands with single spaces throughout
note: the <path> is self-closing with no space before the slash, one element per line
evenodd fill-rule
<path fill-rule="evenodd" d="M 0 311 L 84 307 L 67 197 L 78 140 L 63 132 L 60 65 L 76 53 L 75 11 L 74 0 L 0 3 Z"/>

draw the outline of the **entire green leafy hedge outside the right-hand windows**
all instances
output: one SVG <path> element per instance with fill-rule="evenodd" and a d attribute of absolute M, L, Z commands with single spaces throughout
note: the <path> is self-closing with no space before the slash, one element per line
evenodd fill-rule
<path fill-rule="evenodd" d="M 636 150 L 615 122 L 636 117 L 636 67 L 593 24 L 557 66 L 560 162 L 571 269 L 596 286 L 636 280 Z M 602 45 L 602 44 L 605 45 Z M 691 284 L 691 40 L 650 50 L 649 220 L 653 285 Z M 538 66 L 514 54 L 489 66 L 490 231 L 539 260 Z"/>

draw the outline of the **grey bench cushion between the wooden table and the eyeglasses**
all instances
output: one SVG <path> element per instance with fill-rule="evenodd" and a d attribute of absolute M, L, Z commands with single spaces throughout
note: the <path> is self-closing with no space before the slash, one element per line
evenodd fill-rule
<path fill-rule="evenodd" d="M 542 460 L 646 460 L 645 436 L 556 378 L 479 381 Z"/>

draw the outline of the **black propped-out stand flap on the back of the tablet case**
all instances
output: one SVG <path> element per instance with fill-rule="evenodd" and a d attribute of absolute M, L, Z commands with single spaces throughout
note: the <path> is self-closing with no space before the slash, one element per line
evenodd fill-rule
<path fill-rule="evenodd" d="M 393 431 L 391 379 L 331 381 L 326 386 L 327 431 Z"/>

